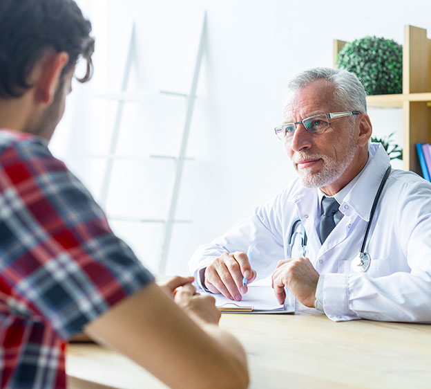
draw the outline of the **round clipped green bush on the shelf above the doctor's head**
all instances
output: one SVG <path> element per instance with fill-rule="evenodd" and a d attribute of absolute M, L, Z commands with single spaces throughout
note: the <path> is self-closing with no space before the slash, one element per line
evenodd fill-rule
<path fill-rule="evenodd" d="M 373 36 L 347 42 L 336 67 L 356 74 L 367 95 L 403 93 L 403 46 L 393 39 Z"/>

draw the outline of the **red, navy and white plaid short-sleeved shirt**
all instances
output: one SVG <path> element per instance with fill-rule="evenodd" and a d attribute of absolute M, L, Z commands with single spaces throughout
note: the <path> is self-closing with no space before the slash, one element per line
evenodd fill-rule
<path fill-rule="evenodd" d="M 41 138 L 0 130 L 0 386 L 66 388 L 66 342 L 153 280 Z"/>

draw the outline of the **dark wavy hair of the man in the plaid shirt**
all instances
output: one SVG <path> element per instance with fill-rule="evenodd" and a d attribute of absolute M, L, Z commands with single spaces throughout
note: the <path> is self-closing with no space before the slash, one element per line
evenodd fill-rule
<path fill-rule="evenodd" d="M 73 0 L 0 1 L 0 97 L 17 98 L 32 87 L 28 78 L 48 50 L 66 51 L 73 69 L 79 57 L 86 60 L 86 82 L 93 74 L 94 39 L 91 24 Z"/>

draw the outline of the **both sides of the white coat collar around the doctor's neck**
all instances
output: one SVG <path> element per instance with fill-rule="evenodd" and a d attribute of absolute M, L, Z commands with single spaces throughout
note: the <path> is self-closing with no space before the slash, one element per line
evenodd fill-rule
<path fill-rule="evenodd" d="M 370 143 L 368 147 L 369 163 L 365 169 L 361 171 L 360 177 L 345 196 L 340 209 L 345 210 L 344 205 L 348 205 L 356 212 L 361 219 L 369 221 L 370 211 L 374 197 L 376 197 L 377 190 L 387 167 L 390 165 L 390 159 L 381 143 Z M 292 190 L 287 197 L 287 201 L 291 203 L 298 203 L 306 196 L 317 196 L 316 188 L 304 188 L 300 183 L 298 177 L 295 179 Z M 350 212 L 349 212 L 350 213 Z M 352 215 L 349 215 L 352 217 Z"/>

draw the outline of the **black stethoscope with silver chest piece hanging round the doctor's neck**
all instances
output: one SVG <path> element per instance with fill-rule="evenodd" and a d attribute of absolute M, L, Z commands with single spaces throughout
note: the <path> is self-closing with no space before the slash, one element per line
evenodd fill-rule
<path fill-rule="evenodd" d="M 365 233 L 363 236 L 361 251 L 356 254 L 352 262 L 350 262 L 350 268 L 355 273 L 362 273 L 363 271 L 367 271 L 370 267 L 371 257 L 369 253 L 365 253 L 365 245 L 367 244 L 368 233 L 370 233 L 372 219 L 374 217 L 374 212 L 376 211 L 377 203 L 379 203 L 379 199 L 381 197 L 381 193 L 383 192 L 383 187 L 387 181 L 387 177 L 391 172 L 391 167 L 389 166 L 383 176 L 383 179 L 380 183 L 379 189 L 377 190 L 376 196 L 374 197 L 374 201 L 372 203 L 371 212 L 370 212 L 370 220 L 367 222 L 367 228 L 365 228 Z M 291 258 L 292 249 L 295 243 L 296 237 L 300 237 L 300 244 L 303 248 L 303 257 L 305 257 L 305 253 L 307 251 L 307 234 L 304 232 L 299 232 L 296 230 L 297 226 L 301 223 L 300 219 L 296 219 L 291 226 L 290 235 L 289 235 L 289 246 L 287 247 L 287 257 Z"/>

